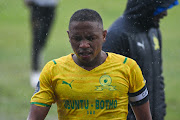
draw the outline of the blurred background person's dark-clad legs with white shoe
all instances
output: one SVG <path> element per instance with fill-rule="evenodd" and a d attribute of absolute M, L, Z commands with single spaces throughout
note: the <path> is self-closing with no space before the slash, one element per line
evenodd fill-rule
<path fill-rule="evenodd" d="M 52 26 L 58 0 L 25 0 L 30 8 L 32 25 L 32 71 L 30 83 L 35 87 L 40 76 L 42 50 Z"/>

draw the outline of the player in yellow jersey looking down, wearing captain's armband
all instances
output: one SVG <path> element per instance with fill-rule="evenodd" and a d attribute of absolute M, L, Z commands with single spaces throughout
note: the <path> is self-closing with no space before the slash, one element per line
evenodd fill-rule
<path fill-rule="evenodd" d="M 31 98 L 29 120 L 43 120 L 52 103 L 59 119 L 121 119 L 128 101 L 138 120 L 152 120 L 148 91 L 136 62 L 102 51 L 107 31 L 91 9 L 76 11 L 69 22 L 74 53 L 46 64 Z"/>

